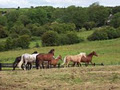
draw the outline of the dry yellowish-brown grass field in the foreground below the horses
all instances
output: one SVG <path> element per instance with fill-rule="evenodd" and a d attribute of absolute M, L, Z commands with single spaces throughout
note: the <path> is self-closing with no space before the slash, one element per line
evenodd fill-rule
<path fill-rule="evenodd" d="M 120 66 L 1 71 L 0 90 L 120 90 Z"/>

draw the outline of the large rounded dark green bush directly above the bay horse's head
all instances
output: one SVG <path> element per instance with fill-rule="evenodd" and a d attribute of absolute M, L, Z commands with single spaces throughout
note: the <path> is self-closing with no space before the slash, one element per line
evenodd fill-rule
<path fill-rule="evenodd" d="M 42 35 L 43 46 L 55 46 L 58 44 L 58 33 L 54 31 L 48 31 Z"/>

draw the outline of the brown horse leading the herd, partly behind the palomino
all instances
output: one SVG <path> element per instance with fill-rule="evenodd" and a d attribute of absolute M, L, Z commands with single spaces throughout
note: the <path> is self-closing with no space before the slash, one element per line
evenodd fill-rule
<path fill-rule="evenodd" d="M 92 65 L 95 65 L 95 64 L 92 63 L 92 57 L 93 57 L 93 56 L 98 56 L 95 51 L 91 52 L 91 53 L 88 54 L 86 57 L 82 57 L 81 62 L 84 62 L 84 63 L 86 64 L 86 66 L 89 64 L 89 62 L 90 62 Z"/>

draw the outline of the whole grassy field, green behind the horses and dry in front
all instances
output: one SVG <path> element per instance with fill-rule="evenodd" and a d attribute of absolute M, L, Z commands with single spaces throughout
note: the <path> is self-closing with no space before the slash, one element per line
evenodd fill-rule
<path fill-rule="evenodd" d="M 86 37 L 93 31 L 78 33 Z M 36 41 L 37 42 L 37 41 Z M 38 51 L 47 53 L 55 49 L 55 56 L 76 55 L 80 52 L 89 54 L 96 51 L 98 57 L 93 62 L 105 66 L 82 66 L 69 68 L 32 69 L 23 71 L 11 69 L 0 71 L 0 90 L 120 90 L 120 38 L 103 41 L 87 41 L 74 45 L 32 48 L 0 52 L 0 62 L 13 63 L 23 53 Z"/>

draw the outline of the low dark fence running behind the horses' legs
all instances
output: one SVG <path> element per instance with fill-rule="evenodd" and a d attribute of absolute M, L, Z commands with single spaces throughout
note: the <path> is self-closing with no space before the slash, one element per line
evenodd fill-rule
<path fill-rule="evenodd" d="M 81 64 L 81 65 L 85 65 L 85 64 Z M 96 66 L 96 65 L 104 66 L 103 63 L 100 63 L 100 64 L 95 64 L 94 63 L 94 66 Z M 69 64 L 68 67 L 72 67 L 72 66 L 73 66 L 73 64 Z M 12 68 L 13 67 L 13 63 L 0 63 L 0 71 L 2 71 L 2 68 L 4 68 L 4 67 L 5 68 Z M 35 68 L 35 65 L 33 65 L 33 68 Z M 54 67 L 52 66 L 52 68 L 54 68 Z M 60 63 L 59 63 L 59 64 L 57 64 L 56 68 L 63 68 L 63 66 L 60 66 Z"/>

